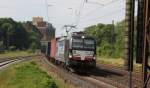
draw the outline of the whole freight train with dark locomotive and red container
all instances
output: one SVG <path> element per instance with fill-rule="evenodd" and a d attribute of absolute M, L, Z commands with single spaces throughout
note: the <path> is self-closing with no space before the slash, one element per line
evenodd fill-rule
<path fill-rule="evenodd" d="M 96 66 L 96 41 L 83 32 L 74 32 L 69 36 L 44 42 L 41 51 L 66 67 L 94 68 Z"/>

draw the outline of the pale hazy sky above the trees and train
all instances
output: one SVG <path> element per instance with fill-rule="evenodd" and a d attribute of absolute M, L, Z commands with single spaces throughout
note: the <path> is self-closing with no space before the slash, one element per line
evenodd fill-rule
<path fill-rule="evenodd" d="M 31 21 L 40 16 L 56 28 L 56 36 L 64 35 L 64 25 L 77 25 L 73 31 L 97 23 L 115 23 L 125 17 L 125 0 L 0 0 L 0 18 Z M 48 8 L 47 8 L 48 5 Z"/>

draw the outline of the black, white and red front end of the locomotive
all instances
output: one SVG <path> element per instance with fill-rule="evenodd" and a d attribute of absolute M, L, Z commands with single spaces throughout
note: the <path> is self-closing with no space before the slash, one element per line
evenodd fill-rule
<path fill-rule="evenodd" d="M 72 36 L 70 41 L 69 64 L 72 67 L 95 67 L 95 39 L 87 36 Z"/>

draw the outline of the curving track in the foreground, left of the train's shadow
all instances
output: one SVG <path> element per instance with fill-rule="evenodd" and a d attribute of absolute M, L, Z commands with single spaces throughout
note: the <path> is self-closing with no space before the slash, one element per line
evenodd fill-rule
<path fill-rule="evenodd" d="M 50 63 L 46 58 L 43 59 L 43 62 L 48 65 L 50 71 L 55 72 L 66 82 L 75 85 L 77 88 L 117 88 L 92 76 L 69 72 L 63 67 Z"/>

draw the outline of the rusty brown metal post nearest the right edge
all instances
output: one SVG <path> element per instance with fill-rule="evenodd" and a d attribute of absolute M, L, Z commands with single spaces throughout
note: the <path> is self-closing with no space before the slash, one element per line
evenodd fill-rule
<path fill-rule="evenodd" d="M 150 70 L 150 66 L 148 64 L 148 56 L 149 56 L 149 47 L 150 47 L 150 0 L 144 0 L 144 46 L 143 46 L 143 60 L 142 60 L 142 78 L 143 78 L 143 88 L 147 88 L 147 83 L 149 81 L 150 75 L 148 76 L 148 70 Z"/>

